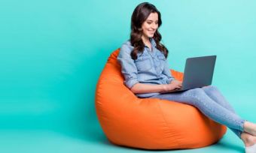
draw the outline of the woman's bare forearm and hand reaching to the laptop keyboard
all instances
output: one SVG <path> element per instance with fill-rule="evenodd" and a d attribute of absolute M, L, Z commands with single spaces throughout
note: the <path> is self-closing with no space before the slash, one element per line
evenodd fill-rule
<path fill-rule="evenodd" d="M 145 94 L 152 92 L 171 92 L 175 89 L 181 89 L 182 83 L 177 80 L 172 80 L 170 84 L 164 85 L 148 85 L 143 83 L 136 83 L 130 90 L 134 94 Z"/>

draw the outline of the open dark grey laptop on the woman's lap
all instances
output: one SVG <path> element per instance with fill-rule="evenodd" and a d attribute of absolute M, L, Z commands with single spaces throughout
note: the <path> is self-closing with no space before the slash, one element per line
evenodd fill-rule
<path fill-rule="evenodd" d="M 211 85 L 216 58 L 216 55 L 187 58 L 182 88 L 172 92 L 182 92 Z"/>

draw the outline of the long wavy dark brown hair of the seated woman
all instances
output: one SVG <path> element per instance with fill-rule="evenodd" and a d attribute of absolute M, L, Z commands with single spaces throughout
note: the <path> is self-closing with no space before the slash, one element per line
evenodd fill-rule
<path fill-rule="evenodd" d="M 151 13 L 158 14 L 158 28 L 162 24 L 161 13 L 157 10 L 157 7 L 151 5 L 148 2 L 141 3 L 138 5 L 135 10 L 133 10 L 132 20 L 131 20 L 131 34 L 130 34 L 130 42 L 132 44 L 133 51 L 131 52 L 131 56 L 133 59 L 137 58 L 138 52 L 143 52 L 145 44 L 142 41 L 142 23 L 148 19 L 148 16 Z M 163 52 L 163 55 L 167 58 L 168 49 L 160 43 L 162 36 L 160 32 L 157 31 L 154 33 L 154 40 L 157 43 L 157 49 Z"/>

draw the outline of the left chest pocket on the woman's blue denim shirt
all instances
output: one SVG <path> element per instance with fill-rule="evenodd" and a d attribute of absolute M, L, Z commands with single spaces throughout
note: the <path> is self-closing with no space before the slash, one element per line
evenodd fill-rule
<path fill-rule="evenodd" d="M 151 59 L 149 57 L 139 57 L 135 61 L 136 67 L 138 71 L 146 72 L 149 71 L 152 67 L 151 65 Z"/>

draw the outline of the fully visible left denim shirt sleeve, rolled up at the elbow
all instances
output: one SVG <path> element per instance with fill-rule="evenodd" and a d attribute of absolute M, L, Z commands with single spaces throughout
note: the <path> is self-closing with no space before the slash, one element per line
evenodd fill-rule
<path fill-rule="evenodd" d="M 139 83 L 137 80 L 137 68 L 134 63 L 133 58 L 130 55 L 133 48 L 128 44 L 124 43 L 121 48 L 117 60 L 121 65 L 121 72 L 124 77 L 124 84 L 131 89 L 136 83 Z"/>

